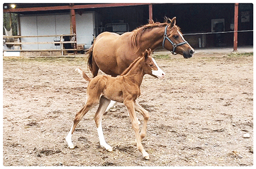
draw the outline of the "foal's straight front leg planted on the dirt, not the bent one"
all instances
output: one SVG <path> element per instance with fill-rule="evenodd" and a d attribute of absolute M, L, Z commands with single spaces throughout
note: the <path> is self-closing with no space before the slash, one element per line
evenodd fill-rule
<path fill-rule="evenodd" d="M 149 159 L 148 153 L 144 150 L 142 143 L 141 143 L 141 136 L 139 136 L 139 124 L 138 120 L 135 115 L 135 109 L 134 109 L 134 100 L 125 100 L 124 102 L 130 118 L 131 118 L 131 125 L 133 126 L 134 132 L 135 132 L 135 138 L 136 138 L 136 143 L 139 151 L 143 154 L 143 157 L 145 159 Z"/>

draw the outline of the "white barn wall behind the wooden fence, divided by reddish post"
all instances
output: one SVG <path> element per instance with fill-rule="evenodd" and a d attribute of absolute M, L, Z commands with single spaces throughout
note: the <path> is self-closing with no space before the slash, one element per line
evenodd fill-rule
<path fill-rule="evenodd" d="M 76 14 L 77 44 L 90 45 L 94 31 L 94 12 Z M 22 36 L 61 35 L 70 33 L 69 14 L 21 15 L 20 32 Z M 26 37 L 22 42 L 52 42 L 55 37 Z M 60 49 L 54 44 L 26 44 L 22 49 Z"/>

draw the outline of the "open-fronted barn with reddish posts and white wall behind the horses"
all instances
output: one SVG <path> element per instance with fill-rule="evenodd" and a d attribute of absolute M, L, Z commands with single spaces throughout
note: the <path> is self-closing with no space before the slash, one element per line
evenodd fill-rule
<path fill-rule="evenodd" d="M 148 19 L 163 22 L 164 16 L 176 16 L 177 25 L 193 48 L 208 48 L 234 45 L 237 15 L 238 46 L 253 45 L 252 3 L 16 3 L 15 7 L 4 3 L 3 12 L 19 16 L 20 41 L 14 50 L 20 52 L 60 54 L 63 47 L 70 49 L 66 52 L 77 52 L 89 48 L 102 31 L 121 34 L 148 23 Z M 60 41 L 67 43 L 57 44 Z"/>

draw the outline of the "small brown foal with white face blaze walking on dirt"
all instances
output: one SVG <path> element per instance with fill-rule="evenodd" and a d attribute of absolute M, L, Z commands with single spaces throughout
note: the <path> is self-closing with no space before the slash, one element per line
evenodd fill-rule
<path fill-rule="evenodd" d="M 149 159 L 148 153 L 143 149 L 141 140 L 146 136 L 146 125 L 148 120 L 148 112 L 136 102 L 136 99 L 141 95 L 140 86 L 143 76 L 150 74 L 156 78 L 164 78 L 165 73 L 158 67 L 154 58 L 150 56 L 151 49 L 145 50 L 142 57 L 138 57 L 123 73 L 118 77 L 110 77 L 109 75 L 97 75 L 90 79 L 84 71 L 77 69 L 82 74 L 86 81 L 90 81 L 87 87 L 87 100 L 82 109 L 76 113 L 74 123 L 71 127 L 66 141 L 68 147 L 73 149 L 74 145 L 71 137 L 75 128 L 82 117 L 96 104 L 100 102 L 97 112 L 94 116 L 96 122 L 98 136 L 100 138 L 100 145 L 104 146 L 106 150 L 112 151 L 102 132 L 101 119 L 110 100 L 124 103 L 131 118 L 131 124 L 135 131 L 135 138 L 139 151 L 143 154 L 145 159 Z M 140 112 L 144 117 L 141 135 L 139 135 L 139 124 L 135 115 L 135 110 Z"/>

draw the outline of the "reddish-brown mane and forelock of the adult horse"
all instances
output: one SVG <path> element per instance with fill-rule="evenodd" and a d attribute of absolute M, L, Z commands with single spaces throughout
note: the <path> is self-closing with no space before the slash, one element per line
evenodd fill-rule
<path fill-rule="evenodd" d="M 154 22 L 154 20 L 149 20 L 148 24 L 141 26 L 137 29 L 134 29 L 132 31 L 133 35 L 131 35 L 131 39 L 130 39 L 130 43 L 131 45 L 135 48 L 135 49 L 139 49 L 139 47 L 141 46 L 141 36 L 143 35 L 144 32 L 152 29 L 152 28 L 156 28 L 156 27 L 165 27 L 167 26 L 168 22 L 171 22 L 170 18 L 164 17 L 164 23 L 160 23 L 160 22 Z M 176 31 L 180 31 L 180 28 L 178 26 L 174 26 L 171 28 L 171 34 L 176 32 Z"/>

